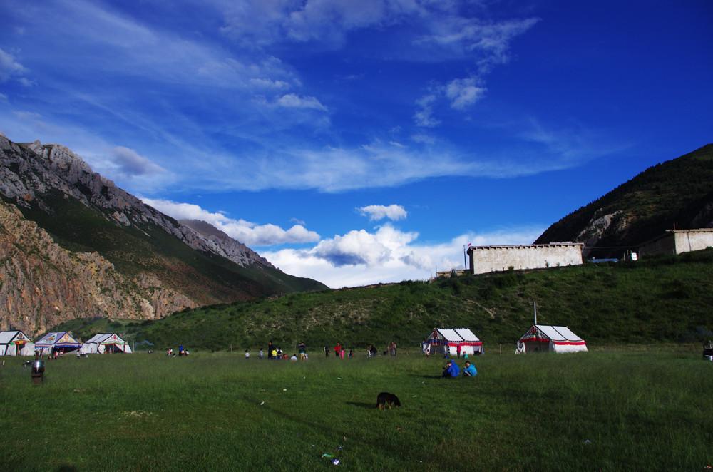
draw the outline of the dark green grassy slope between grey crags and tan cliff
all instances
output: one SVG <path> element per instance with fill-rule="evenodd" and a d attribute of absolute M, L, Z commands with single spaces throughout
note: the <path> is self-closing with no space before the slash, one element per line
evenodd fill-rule
<path fill-rule="evenodd" d="M 21 211 L 66 249 L 96 251 L 128 276 L 153 273 L 168 287 L 204 304 L 324 288 L 314 280 L 271 267 L 245 268 L 222 257 L 203 254 L 151 223 L 140 229 L 117 225 L 58 192 L 45 200 L 51 201 L 51 210 L 35 205 Z"/>

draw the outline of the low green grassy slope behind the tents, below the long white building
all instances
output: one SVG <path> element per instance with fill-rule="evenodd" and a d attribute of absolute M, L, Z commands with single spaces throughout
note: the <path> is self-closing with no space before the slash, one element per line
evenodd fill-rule
<path fill-rule="evenodd" d="M 113 331 L 154 349 L 258 349 L 272 339 L 313 351 L 339 341 L 361 351 L 394 340 L 414 349 L 434 327 L 470 327 L 488 350 L 515 342 L 533 323 L 563 324 L 590 345 L 692 342 L 713 330 L 713 250 L 626 263 L 586 263 L 292 294 L 279 299 L 185 310 Z M 76 329 L 76 326 L 73 327 Z M 87 324 L 86 338 L 101 329 Z"/>

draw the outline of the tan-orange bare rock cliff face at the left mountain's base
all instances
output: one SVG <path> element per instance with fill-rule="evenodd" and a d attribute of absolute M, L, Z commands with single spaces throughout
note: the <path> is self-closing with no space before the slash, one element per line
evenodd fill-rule
<path fill-rule="evenodd" d="M 78 317 L 154 319 L 198 306 L 160 280 L 126 279 L 97 252 L 69 252 L 0 202 L 0 329 L 43 332 Z"/>

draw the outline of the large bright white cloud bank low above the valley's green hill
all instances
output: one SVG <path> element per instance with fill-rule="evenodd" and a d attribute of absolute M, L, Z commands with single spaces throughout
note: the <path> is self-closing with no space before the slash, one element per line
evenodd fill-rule
<path fill-rule="evenodd" d="M 531 244 L 544 228 L 525 227 L 481 235 L 468 233 L 436 245 L 419 245 L 414 232 L 390 225 L 376 232 L 350 231 L 322 240 L 311 249 L 262 252 L 288 274 L 319 280 L 332 288 L 426 280 L 436 271 L 463 268 L 463 247 L 473 245 Z"/>

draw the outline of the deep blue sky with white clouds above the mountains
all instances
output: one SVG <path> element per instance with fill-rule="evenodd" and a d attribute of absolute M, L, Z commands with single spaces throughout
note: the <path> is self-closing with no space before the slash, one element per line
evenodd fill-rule
<path fill-rule="evenodd" d="M 0 0 L 0 131 L 351 287 L 713 141 L 713 3 Z"/>

